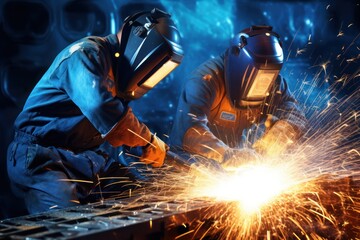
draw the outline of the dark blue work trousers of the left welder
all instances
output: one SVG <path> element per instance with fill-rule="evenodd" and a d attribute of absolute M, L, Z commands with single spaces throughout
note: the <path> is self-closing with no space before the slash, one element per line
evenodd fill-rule
<path fill-rule="evenodd" d="M 7 154 L 13 191 L 30 214 L 124 196 L 139 186 L 126 167 L 99 149 L 42 146 L 35 137 L 16 132 Z"/>

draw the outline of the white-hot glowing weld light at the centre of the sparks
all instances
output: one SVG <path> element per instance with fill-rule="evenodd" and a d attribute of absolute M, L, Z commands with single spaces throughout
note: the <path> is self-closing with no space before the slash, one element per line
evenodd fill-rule
<path fill-rule="evenodd" d="M 290 172 L 280 165 L 254 164 L 232 174 L 198 175 L 192 194 L 220 201 L 238 201 L 241 212 L 253 214 L 296 184 Z"/>

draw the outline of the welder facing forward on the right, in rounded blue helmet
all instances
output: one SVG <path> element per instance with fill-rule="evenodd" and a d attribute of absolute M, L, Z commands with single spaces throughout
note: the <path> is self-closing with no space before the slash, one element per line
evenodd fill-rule
<path fill-rule="evenodd" d="M 283 62 L 271 26 L 236 34 L 224 53 L 200 65 L 185 83 L 172 149 L 224 168 L 285 153 L 306 130 L 306 118 L 279 75 Z"/>

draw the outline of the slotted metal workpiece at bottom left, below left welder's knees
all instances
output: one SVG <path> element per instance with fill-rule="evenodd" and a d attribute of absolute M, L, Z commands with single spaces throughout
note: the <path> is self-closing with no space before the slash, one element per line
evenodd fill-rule
<path fill-rule="evenodd" d="M 204 200 L 112 199 L 3 220 L 0 239 L 197 239 L 214 207 Z"/>

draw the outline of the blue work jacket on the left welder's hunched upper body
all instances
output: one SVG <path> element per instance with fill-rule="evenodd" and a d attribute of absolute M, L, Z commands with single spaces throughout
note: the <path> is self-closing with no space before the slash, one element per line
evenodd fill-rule
<path fill-rule="evenodd" d="M 72 151 L 99 146 L 127 102 L 116 97 L 116 35 L 83 38 L 58 54 L 28 97 L 15 130 L 43 146 Z"/>

